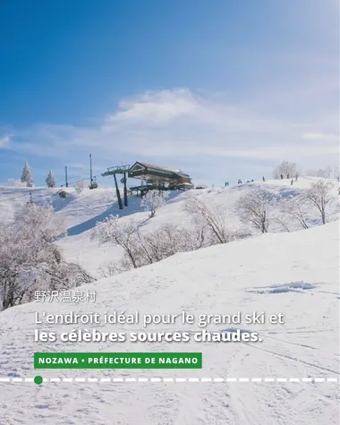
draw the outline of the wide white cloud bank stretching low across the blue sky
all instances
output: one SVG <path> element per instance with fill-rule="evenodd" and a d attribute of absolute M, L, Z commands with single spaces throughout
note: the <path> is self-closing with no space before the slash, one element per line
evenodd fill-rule
<path fill-rule="evenodd" d="M 296 96 L 296 93 L 294 93 Z M 309 99 L 308 99 L 309 101 Z M 11 148 L 19 152 L 87 164 L 112 166 L 126 157 L 167 166 L 213 169 L 275 164 L 283 158 L 303 167 L 324 166 L 338 153 L 337 111 L 328 115 L 269 113 L 234 106 L 223 98 L 197 96 L 189 89 L 149 91 L 122 100 L 117 111 L 92 127 L 36 125 L 16 130 Z M 327 132 L 310 131 L 325 128 Z M 309 143 L 306 143 L 306 141 Z M 223 171 L 224 172 L 224 171 Z"/>

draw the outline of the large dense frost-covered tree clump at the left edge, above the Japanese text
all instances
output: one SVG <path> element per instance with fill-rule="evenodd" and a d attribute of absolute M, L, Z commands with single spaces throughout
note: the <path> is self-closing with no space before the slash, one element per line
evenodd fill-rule
<path fill-rule="evenodd" d="M 34 299 L 35 291 L 70 289 L 93 281 L 67 263 L 55 239 L 63 218 L 49 206 L 25 205 L 10 225 L 0 225 L 0 310 Z"/>

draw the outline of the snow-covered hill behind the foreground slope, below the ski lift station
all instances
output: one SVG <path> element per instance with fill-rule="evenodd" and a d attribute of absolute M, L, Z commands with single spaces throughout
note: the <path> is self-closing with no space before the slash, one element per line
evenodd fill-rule
<path fill-rule="evenodd" d="M 68 197 L 61 200 L 58 196 L 60 189 L 47 188 L 0 188 L 0 220 L 11 220 L 14 211 L 21 205 L 32 199 L 36 203 L 48 203 L 54 206 L 58 214 L 64 216 L 68 227 L 68 236 L 58 243 L 63 248 L 66 259 L 75 261 L 83 268 L 86 268 L 92 276 L 99 277 L 99 268 L 109 262 L 120 259 L 122 251 L 119 247 L 110 245 L 98 246 L 98 242 L 90 240 L 91 230 L 98 221 L 102 221 L 110 215 L 119 215 L 123 219 L 134 218 L 143 222 L 143 231 L 148 232 L 159 227 L 163 223 L 172 223 L 176 225 L 190 225 L 190 217 L 183 211 L 185 200 L 189 196 L 196 196 L 204 202 L 211 205 L 224 205 L 226 223 L 230 227 L 240 226 L 239 218 L 234 210 L 235 203 L 239 198 L 257 188 L 266 188 L 270 191 L 276 201 L 276 205 L 270 211 L 272 220 L 270 220 L 270 232 L 281 232 L 282 226 L 275 222 L 275 217 L 279 216 L 278 208 L 287 199 L 292 198 L 308 189 L 311 183 L 317 182 L 315 177 L 300 177 L 293 186 L 289 179 L 271 180 L 265 183 L 243 183 L 224 188 L 215 188 L 207 190 L 194 190 L 183 193 L 173 191 L 166 206 L 157 211 L 156 217 L 148 220 L 149 213 L 140 208 L 140 198 L 129 197 L 129 207 L 119 210 L 115 196 L 114 188 L 99 188 L 97 190 L 82 191 L 77 194 L 73 188 L 68 188 Z M 329 205 L 328 221 L 335 221 L 338 217 L 337 185 L 334 183 L 334 200 Z M 306 207 L 310 208 L 310 207 Z M 319 213 L 316 210 L 310 210 L 313 218 L 313 225 L 320 224 Z M 291 223 L 290 230 L 299 230 L 301 226 L 298 223 Z M 252 231 L 254 231 L 252 229 Z M 256 232 L 255 232 L 256 233 Z"/>

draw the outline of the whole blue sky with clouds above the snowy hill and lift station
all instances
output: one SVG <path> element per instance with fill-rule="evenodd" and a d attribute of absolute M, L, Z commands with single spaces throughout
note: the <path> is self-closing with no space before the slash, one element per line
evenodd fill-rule
<path fill-rule="evenodd" d="M 337 0 L 3 0 L 0 182 L 89 153 L 215 184 L 336 166 L 338 56 Z"/>

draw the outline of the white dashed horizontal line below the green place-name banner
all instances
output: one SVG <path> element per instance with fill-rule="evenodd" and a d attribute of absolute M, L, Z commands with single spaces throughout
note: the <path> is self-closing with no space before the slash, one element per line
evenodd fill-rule
<path fill-rule="evenodd" d="M 0 382 L 34 382 L 34 378 L 0 378 Z M 339 382 L 340 378 L 43 378 L 43 382 Z"/>

